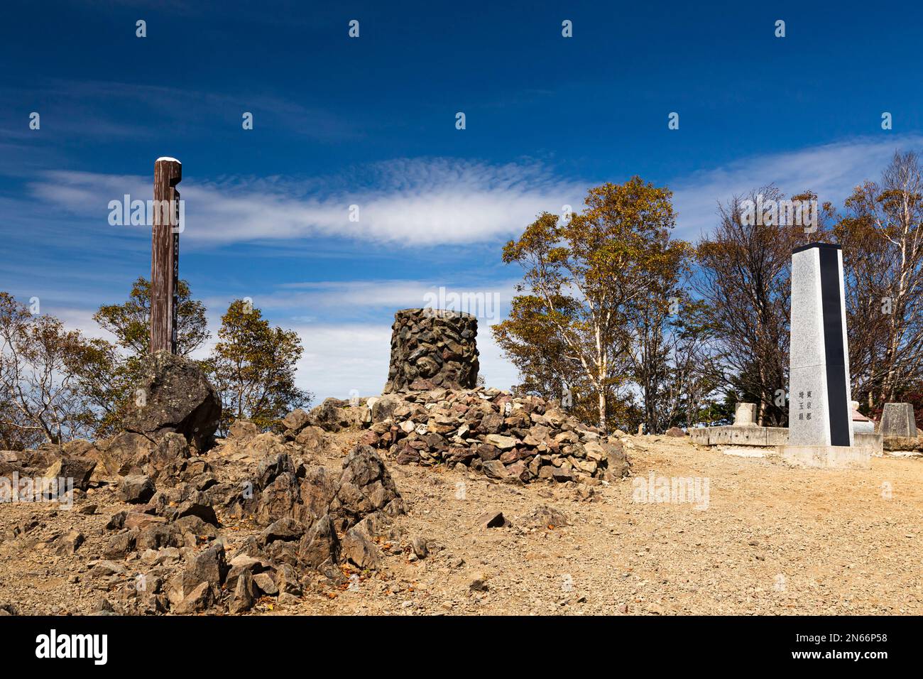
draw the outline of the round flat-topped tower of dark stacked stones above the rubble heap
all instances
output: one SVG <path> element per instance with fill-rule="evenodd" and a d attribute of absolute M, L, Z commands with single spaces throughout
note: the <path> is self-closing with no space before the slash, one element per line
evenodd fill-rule
<path fill-rule="evenodd" d="M 477 382 L 477 319 L 446 309 L 402 309 L 391 326 L 384 393 L 472 389 Z"/>

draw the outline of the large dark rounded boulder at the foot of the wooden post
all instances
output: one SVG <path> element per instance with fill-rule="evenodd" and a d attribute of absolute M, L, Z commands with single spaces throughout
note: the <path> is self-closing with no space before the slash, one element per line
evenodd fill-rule
<path fill-rule="evenodd" d="M 138 382 L 134 410 L 126 430 L 151 438 L 183 434 L 198 450 L 207 450 L 222 416 L 221 400 L 198 365 L 166 351 L 148 357 Z"/>

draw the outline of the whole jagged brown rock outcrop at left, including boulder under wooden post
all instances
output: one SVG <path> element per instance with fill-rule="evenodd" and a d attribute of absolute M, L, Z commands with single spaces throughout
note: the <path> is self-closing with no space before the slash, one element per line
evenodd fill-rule
<path fill-rule="evenodd" d="M 327 430 L 360 426 L 348 416 L 361 408 L 328 404 L 304 418 L 298 411 L 286 418 L 292 435 L 237 422 L 215 445 L 220 404 L 195 364 L 153 357 L 145 389 L 131 430 L 0 455 L 6 471 L 73 479 L 66 492 L 78 514 L 96 515 L 98 498 L 116 510 L 99 534 L 85 528 L 43 538 L 77 560 L 75 578 L 114 600 L 99 612 L 294 603 L 318 577 L 342 584 L 344 568 L 375 569 L 402 551 L 393 526 L 404 512 L 401 493 L 376 451 L 355 445 L 339 470 L 318 463 Z M 40 529 L 30 520 L 10 537 L 35 540 Z"/>

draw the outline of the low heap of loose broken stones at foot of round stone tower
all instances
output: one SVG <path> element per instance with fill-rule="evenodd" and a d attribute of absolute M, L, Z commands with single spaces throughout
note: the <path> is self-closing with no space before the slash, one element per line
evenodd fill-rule
<path fill-rule="evenodd" d="M 295 426 L 286 435 L 295 441 L 320 436 L 328 423 L 353 423 L 368 428 L 362 443 L 398 464 L 462 465 L 502 481 L 598 483 L 630 468 L 617 436 L 581 424 L 556 403 L 498 389 L 384 394 L 358 405 L 328 399 L 289 420 Z"/>

